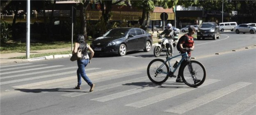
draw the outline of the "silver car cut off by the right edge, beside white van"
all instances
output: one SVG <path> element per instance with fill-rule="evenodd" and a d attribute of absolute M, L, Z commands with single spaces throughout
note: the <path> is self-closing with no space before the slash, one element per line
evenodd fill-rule
<path fill-rule="evenodd" d="M 236 26 L 234 28 L 236 34 L 239 34 L 239 33 L 245 34 L 245 33 L 248 33 L 248 32 L 250 32 L 251 34 L 254 34 L 255 33 L 255 29 L 256 29 L 255 25 L 253 25 L 253 24 L 246 24 L 246 23 L 240 24 L 240 25 L 238 25 L 238 26 Z"/>

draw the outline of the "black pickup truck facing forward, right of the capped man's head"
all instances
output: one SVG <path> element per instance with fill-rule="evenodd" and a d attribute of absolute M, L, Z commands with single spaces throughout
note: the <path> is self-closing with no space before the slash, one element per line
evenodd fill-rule
<path fill-rule="evenodd" d="M 216 40 L 220 38 L 220 29 L 215 22 L 203 22 L 197 31 L 197 40 L 212 38 Z"/>

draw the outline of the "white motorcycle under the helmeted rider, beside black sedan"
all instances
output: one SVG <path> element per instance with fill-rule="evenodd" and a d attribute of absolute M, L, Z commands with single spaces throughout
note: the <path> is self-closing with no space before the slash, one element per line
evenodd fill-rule
<path fill-rule="evenodd" d="M 158 33 L 158 31 L 157 31 L 157 33 Z M 173 40 L 174 43 L 173 43 L 173 47 L 176 46 L 175 43 L 178 41 L 178 34 L 179 34 L 179 32 L 175 29 L 174 30 L 174 40 Z M 160 54 L 162 52 L 162 49 L 166 50 L 167 43 L 169 43 L 167 38 L 163 38 L 162 36 L 159 36 L 158 44 L 154 48 L 154 56 L 155 57 L 159 57 L 160 56 Z M 170 50 L 170 48 L 169 48 L 169 50 Z M 168 55 L 171 55 L 171 52 L 167 52 L 167 53 L 168 53 Z"/>

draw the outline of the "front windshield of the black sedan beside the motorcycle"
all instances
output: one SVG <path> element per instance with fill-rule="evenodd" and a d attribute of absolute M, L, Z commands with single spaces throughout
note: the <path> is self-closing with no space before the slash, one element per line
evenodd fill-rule
<path fill-rule="evenodd" d="M 118 38 L 123 38 L 129 31 L 128 28 L 118 28 L 118 29 L 112 29 L 105 33 L 103 37 L 118 37 Z"/>

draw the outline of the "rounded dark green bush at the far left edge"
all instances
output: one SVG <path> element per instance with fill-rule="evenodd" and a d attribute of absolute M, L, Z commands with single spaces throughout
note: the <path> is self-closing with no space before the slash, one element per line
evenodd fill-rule
<path fill-rule="evenodd" d="M 12 37 L 11 24 L 1 21 L 1 29 L 0 29 L 0 39 L 1 44 L 6 43 Z"/>

